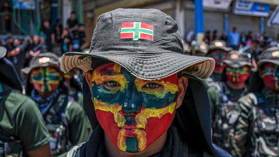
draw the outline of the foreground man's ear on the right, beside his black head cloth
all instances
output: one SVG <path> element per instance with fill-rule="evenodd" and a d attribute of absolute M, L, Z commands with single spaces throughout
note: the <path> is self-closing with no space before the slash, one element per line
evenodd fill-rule
<path fill-rule="evenodd" d="M 188 78 L 187 77 L 178 77 L 178 95 L 176 100 L 176 108 L 179 108 L 182 105 L 186 89 L 188 87 Z"/>

